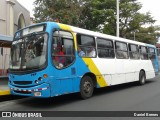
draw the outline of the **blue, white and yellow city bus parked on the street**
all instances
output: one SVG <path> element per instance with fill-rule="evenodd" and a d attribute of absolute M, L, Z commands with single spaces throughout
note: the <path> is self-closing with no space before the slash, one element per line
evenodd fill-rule
<path fill-rule="evenodd" d="M 146 79 L 158 74 L 154 45 L 56 22 L 15 33 L 8 85 L 13 95 L 48 98 Z"/>

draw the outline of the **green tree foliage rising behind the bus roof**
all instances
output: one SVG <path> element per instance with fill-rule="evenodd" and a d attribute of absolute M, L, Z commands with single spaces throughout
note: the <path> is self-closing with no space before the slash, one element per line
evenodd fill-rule
<path fill-rule="evenodd" d="M 36 22 L 56 21 L 93 31 L 116 35 L 116 0 L 36 0 Z M 142 14 L 137 0 L 120 0 L 120 37 L 154 44 L 155 20 L 149 12 Z M 152 29 L 152 30 L 151 30 Z M 133 34 L 135 33 L 135 35 Z"/>

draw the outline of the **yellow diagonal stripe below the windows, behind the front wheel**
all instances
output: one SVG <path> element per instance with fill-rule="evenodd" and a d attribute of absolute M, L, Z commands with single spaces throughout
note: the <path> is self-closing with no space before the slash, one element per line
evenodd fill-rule
<path fill-rule="evenodd" d="M 88 66 L 89 70 L 96 75 L 97 82 L 98 82 L 99 86 L 100 87 L 108 86 L 104 77 L 102 76 L 102 74 L 98 70 L 97 66 L 94 64 L 93 60 L 91 58 L 83 58 L 83 61 Z"/>

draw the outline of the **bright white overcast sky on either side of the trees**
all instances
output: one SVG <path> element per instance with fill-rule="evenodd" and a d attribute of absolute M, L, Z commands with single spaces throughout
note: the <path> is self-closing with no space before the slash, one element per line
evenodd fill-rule
<path fill-rule="evenodd" d="M 31 17 L 33 17 L 33 2 L 35 0 L 17 0 L 21 5 L 30 11 Z M 141 13 L 150 12 L 151 16 L 157 20 L 155 25 L 160 25 L 160 0 L 138 0 L 142 4 Z"/>

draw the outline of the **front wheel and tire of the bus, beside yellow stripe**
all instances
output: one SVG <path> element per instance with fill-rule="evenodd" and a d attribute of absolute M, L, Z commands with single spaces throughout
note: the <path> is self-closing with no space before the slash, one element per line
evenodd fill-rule
<path fill-rule="evenodd" d="M 92 97 L 94 91 L 94 84 L 92 78 L 89 76 L 84 76 L 80 84 L 80 97 L 82 99 L 88 99 Z"/>

